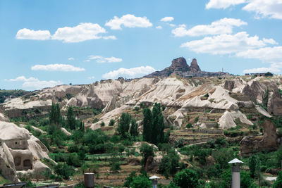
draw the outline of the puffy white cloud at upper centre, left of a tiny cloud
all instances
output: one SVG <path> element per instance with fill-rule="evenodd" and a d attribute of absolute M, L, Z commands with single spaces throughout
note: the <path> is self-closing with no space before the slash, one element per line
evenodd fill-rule
<path fill-rule="evenodd" d="M 114 19 L 109 20 L 105 25 L 111 27 L 111 30 L 121 30 L 121 25 L 130 28 L 152 27 L 152 23 L 149 22 L 147 17 L 136 17 L 132 14 L 123 15 L 121 18 L 114 16 Z"/>

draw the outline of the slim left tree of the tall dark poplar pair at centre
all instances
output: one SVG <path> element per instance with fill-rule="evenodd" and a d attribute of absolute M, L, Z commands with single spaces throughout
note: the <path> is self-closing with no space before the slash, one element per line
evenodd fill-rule
<path fill-rule="evenodd" d="M 149 108 L 143 109 L 143 140 L 147 142 L 152 141 L 152 111 Z"/>

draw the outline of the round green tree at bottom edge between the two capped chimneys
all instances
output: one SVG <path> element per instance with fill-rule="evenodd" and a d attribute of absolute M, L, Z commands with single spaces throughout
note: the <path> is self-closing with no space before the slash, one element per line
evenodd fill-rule
<path fill-rule="evenodd" d="M 199 185 L 199 175 L 195 170 L 186 168 L 176 173 L 173 177 L 173 182 L 181 188 L 195 188 Z"/>

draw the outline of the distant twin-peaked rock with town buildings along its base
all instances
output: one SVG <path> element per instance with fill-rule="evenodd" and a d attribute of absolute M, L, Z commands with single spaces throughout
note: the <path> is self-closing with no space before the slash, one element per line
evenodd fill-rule
<path fill-rule="evenodd" d="M 223 76 L 230 75 L 223 72 L 207 72 L 202 71 L 197 63 L 197 59 L 193 58 L 190 66 L 187 64 L 185 58 L 175 58 L 171 61 L 171 65 L 161 71 L 156 71 L 145 77 L 168 77 L 170 75 L 178 75 L 180 77 L 209 77 L 209 76 Z"/>

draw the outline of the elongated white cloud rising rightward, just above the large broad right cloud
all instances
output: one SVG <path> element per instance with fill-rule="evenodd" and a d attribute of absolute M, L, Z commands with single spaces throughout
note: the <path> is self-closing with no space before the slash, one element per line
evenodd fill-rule
<path fill-rule="evenodd" d="M 233 27 L 240 27 L 241 25 L 247 25 L 247 23 L 240 19 L 222 18 L 210 25 L 196 25 L 190 30 L 186 30 L 185 25 L 180 25 L 180 27 L 172 30 L 172 34 L 175 37 L 230 34 L 233 32 Z"/>

